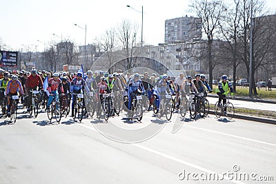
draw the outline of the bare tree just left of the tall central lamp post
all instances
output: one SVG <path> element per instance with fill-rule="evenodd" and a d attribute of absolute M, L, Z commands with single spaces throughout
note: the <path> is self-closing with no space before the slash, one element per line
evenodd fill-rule
<path fill-rule="evenodd" d="M 133 25 L 130 21 L 124 19 L 117 27 L 118 39 L 123 45 L 126 57 L 125 70 L 129 70 L 135 65 L 135 60 L 132 59 L 132 56 L 137 35 L 137 25 Z"/>

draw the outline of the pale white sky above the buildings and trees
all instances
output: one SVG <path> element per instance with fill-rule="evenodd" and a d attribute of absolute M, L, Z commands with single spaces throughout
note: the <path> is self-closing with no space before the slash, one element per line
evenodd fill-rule
<path fill-rule="evenodd" d="M 84 45 L 110 28 L 128 19 L 139 25 L 141 39 L 141 8 L 144 9 L 143 40 L 157 45 L 164 43 L 165 20 L 186 15 L 190 0 L 0 0 L 0 39 L 12 50 L 30 48 L 41 52 L 49 42 L 70 39 Z M 140 11 L 137 12 L 127 5 Z M 266 5 L 276 10 L 275 0 Z M 77 23 L 81 28 L 75 26 Z M 53 35 L 55 34 L 55 35 Z M 38 41 L 39 40 L 39 41 Z M 45 43 L 45 44 L 44 44 Z"/>

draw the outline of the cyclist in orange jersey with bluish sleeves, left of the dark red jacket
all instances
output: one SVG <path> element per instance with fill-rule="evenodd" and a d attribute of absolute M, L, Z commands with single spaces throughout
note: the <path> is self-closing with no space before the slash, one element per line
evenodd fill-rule
<path fill-rule="evenodd" d="M 7 90 L 6 90 L 6 94 L 8 96 L 8 103 L 7 103 L 7 115 L 8 117 L 10 117 L 10 96 L 12 95 L 17 95 L 17 92 L 20 92 L 20 95 L 23 95 L 23 88 L 21 85 L 21 82 L 19 81 L 17 75 L 13 74 L 12 79 L 10 81 L 8 81 L 8 85 L 7 85 Z M 18 100 L 17 100 L 18 103 Z"/>

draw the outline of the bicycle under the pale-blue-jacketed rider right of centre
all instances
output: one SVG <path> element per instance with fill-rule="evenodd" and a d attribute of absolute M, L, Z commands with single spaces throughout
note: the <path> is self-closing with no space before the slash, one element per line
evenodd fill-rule
<path fill-rule="evenodd" d="M 161 94 L 160 95 L 160 104 L 159 111 L 157 112 L 157 117 L 161 119 L 161 116 L 166 115 L 166 119 L 170 121 L 172 118 L 172 96 L 170 94 Z"/>

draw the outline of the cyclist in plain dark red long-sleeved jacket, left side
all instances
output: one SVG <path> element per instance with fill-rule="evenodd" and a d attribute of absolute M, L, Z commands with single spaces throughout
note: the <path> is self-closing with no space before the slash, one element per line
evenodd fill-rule
<path fill-rule="evenodd" d="M 43 82 L 41 77 L 37 74 L 37 70 L 32 69 L 31 74 L 26 79 L 26 96 L 28 96 L 27 99 L 27 111 L 30 111 L 30 104 L 32 103 L 32 95 L 30 94 L 30 90 L 37 90 L 37 87 L 42 88 Z M 39 97 L 39 96 L 38 96 Z"/>

